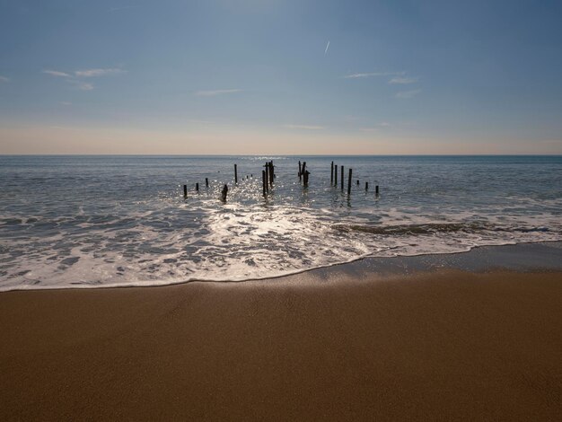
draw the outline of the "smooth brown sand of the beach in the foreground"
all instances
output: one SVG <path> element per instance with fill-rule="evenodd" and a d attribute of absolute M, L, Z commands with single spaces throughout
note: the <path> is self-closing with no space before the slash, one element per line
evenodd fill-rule
<path fill-rule="evenodd" d="M 562 420 L 562 273 L 0 294 L 1 420 Z"/>

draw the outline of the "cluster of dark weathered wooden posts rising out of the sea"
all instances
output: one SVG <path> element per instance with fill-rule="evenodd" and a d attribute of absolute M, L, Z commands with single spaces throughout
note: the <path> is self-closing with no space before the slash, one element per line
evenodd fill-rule
<path fill-rule="evenodd" d="M 273 161 L 270 161 L 270 162 L 265 163 L 265 165 L 263 167 L 264 167 L 265 170 L 261 171 L 261 184 L 262 184 L 263 196 L 267 197 L 268 193 L 269 193 L 269 189 L 273 188 L 273 183 L 274 183 L 275 178 L 276 178 L 275 166 L 273 165 Z M 344 174 L 345 174 L 344 173 L 344 166 L 340 165 L 339 170 L 341 172 L 340 186 L 341 186 L 341 190 L 343 191 L 344 190 Z M 310 174 L 311 174 L 311 172 L 308 171 L 308 169 L 306 168 L 306 162 L 301 163 L 299 161 L 298 176 L 299 176 L 299 181 L 303 182 L 304 187 L 308 187 L 308 180 L 309 180 Z M 348 175 L 347 175 L 347 195 L 351 195 L 352 176 L 353 176 L 353 169 L 349 169 L 349 172 L 348 172 Z M 251 174 L 251 177 L 253 178 L 253 174 Z M 248 176 L 246 176 L 246 179 L 248 179 Z M 330 174 L 329 174 L 329 182 L 330 182 L 331 185 L 338 187 L 338 164 L 334 164 L 334 162 L 331 163 L 331 171 L 330 171 Z M 238 165 L 237 164 L 234 164 L 234 183 L 238 184 Z M 357 180 L 357 185 L 359 185 L 359 180 Z M 208 178 L 205 178 L 205 186 L 208 189 L 208 187 L 209 187 Z M 364 189 L 365 189 L 365 191 L 369 190 L 369 182 L 368 181 L 365 181 Z M 199 183 L 195 184 L 195 190 L 199 191 Z M 379 196 L 379 185 L 375 185 L 374 194 L 377 197 Z M 222 199 L 223 199 L 224 202 L 226 201 L 227 195 L 228 195 L 228 185 L 224 184 L 223 191 L 222 191 Z M 183 185 L 183 198 L 188 198 L 188 185 Z"/>

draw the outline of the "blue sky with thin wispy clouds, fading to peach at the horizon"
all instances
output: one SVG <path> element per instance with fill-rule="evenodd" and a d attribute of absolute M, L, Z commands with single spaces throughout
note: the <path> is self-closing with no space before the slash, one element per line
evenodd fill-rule
<path fill-rule="evenodd" d="M 562 2 L 0 0 L 0 154 L 562 154 Z"/>

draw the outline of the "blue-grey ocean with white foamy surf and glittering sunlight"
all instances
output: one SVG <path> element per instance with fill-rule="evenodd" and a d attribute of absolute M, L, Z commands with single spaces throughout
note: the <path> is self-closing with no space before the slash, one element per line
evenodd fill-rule
<path fill-rule="evenodd" d="M 562 240 L 560 156 L 0 156 L 0 185 L 4 291 L 238 281 Z"/>

